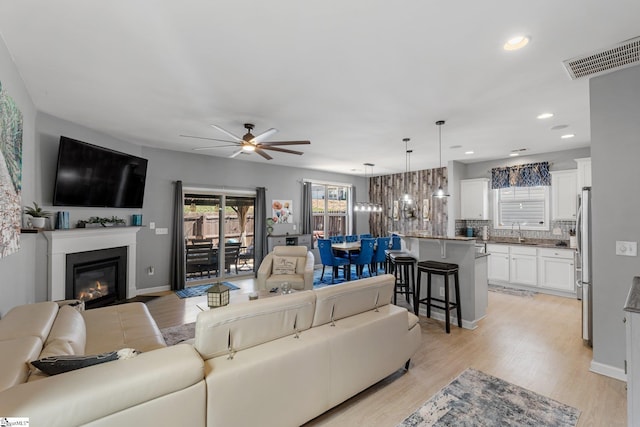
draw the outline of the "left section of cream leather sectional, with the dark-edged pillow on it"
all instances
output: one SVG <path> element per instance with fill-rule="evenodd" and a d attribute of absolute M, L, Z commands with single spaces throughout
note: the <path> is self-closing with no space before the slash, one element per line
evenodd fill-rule
<path fill-rule="evenodd" d="M 142 353 L 53 376 L 30 365 L 122 348 Z M 82 311 L 42 302 L 0 319 L 0 417 L 28 417 L 32 426 L 185 425 L 185 413 L 203 426 L 203 368 L 192 346 L 166 347 L 141 303 Z"/>

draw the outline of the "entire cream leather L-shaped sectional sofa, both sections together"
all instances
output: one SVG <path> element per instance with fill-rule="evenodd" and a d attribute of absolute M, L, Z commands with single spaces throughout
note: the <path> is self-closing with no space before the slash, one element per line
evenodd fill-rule
<path fill-rule="evenodd" d="M 393 289 L 384 275 L 204 311 L 195 339 L 172 347 L 143 304 L 16 307 L 0 319 L 0 417 L 64 427 L 297 426 L 408 367 L 420 326 L 391 304 Z M 123 347 L 142 353 L 50 377 L 29 364 Z"/>

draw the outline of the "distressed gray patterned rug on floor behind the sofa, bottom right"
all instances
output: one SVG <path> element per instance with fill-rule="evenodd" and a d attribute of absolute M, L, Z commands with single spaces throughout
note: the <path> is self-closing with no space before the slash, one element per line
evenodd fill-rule
<path fill-rule="evenodd" d="M 474 369 L 429 399 L 398 427 L 575 426 L 580 411 Z"/>

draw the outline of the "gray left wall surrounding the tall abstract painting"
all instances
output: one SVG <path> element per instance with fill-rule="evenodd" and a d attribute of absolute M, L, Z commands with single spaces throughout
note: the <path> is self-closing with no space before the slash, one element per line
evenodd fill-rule
<path fill-rule="evenodd" d="M 40 202 L 34 194 L 36 109 L 2 38 L 0 38 L 0 83 L 22 111 L 22 204 L 30 205 L 33 201 Z M 36 247 L 37 236 L 23 234 L 20 238 L 20 250 L 0 259 L 0 316 L 15 305 L 36 300 Z"/>

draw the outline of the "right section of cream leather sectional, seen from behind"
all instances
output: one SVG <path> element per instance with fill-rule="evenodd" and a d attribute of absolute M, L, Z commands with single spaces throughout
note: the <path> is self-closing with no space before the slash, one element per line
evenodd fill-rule
<path fill-rule="evenodd" d="M 391 275 L 202 312 L 207 426 L 298 426 L 408 367 L 418 318 Z"/>

